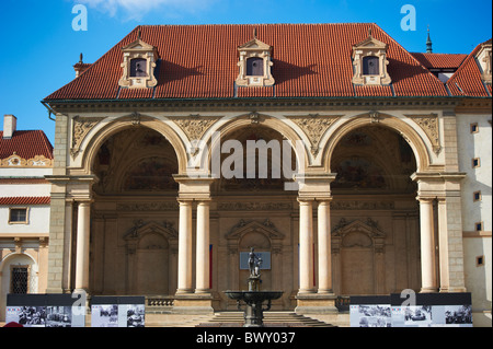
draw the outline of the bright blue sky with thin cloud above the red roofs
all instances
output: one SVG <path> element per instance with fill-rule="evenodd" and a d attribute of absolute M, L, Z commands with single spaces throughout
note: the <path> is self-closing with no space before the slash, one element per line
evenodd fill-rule
<path fill-rule="evenodd" d="M 78 3 L 88 10 L 87 31 L 72 28 Z M 406 4 L 415 31 L 401 27 Z M 93 62 L 139 24 L 371 22 L 411 53 L 425 51 L 429 25 L 434 53 L 469 54 L 491 38 L 491 0 L 1 0 L 0 114 L 54 142 L 41 101 L 74 78 L 80 53 Z"/>

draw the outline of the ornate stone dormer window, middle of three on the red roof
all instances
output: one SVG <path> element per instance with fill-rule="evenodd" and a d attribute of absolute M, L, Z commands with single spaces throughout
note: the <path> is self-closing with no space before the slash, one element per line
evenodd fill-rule
<path fill-rule="evenodd" d="M 236 80 L 238 86 L 272 86 L 274 78 L 271 73 L 272 46 L 254 38 L 238 47 L 240 73 Z"/>

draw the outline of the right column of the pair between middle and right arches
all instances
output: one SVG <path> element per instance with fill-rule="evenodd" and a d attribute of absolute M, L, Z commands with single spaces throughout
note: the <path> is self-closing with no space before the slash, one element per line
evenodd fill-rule
<path fill-rule="evenodd" d="M 319 239 L 319 290 L 318 293 L 332 294 L 332 256 L 331 256 L 331 220 L 330 201 L 319 202 L 318 214 Z"/>

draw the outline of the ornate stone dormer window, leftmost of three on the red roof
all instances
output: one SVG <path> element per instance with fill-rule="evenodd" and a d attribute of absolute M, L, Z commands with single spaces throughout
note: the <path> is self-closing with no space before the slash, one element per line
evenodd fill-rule
<path fill-rule="evenodd" d="M 158 50 L 156 47 L 142 42 L 139 37 L 122 47 L 123 51 L 123 74 L 118 81 L 122 88 L 145 89 L 153 88 L 158 84 L 154 77 Z"/>

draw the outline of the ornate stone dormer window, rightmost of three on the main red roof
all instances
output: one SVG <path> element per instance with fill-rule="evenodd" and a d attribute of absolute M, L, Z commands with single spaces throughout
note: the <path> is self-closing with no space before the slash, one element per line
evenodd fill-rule
<path fill-rule="evenodd" d="M 353 46 L 353 83 L 386 85 L 392 80 L 387 71 L 387 44 L 377 40 L 368 31 L 368 37 Z"/>

